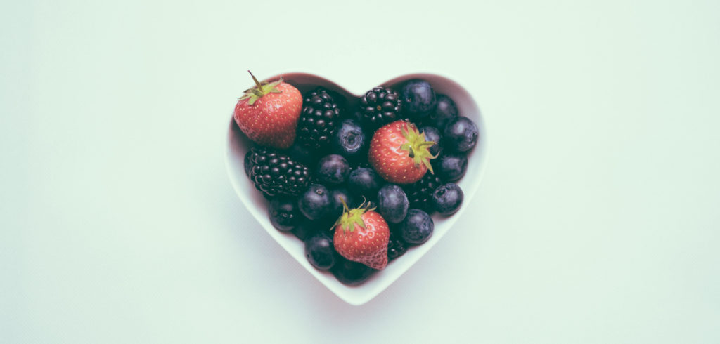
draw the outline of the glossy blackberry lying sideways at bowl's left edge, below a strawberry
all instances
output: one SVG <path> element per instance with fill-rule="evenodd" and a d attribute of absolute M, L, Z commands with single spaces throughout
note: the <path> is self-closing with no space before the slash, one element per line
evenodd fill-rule
<path fill-rule="evenodd" d="M 265 197 L 276 195 L 300 195 L 310 185 L 310 170 L 287 155 L 253 147 L 248 154 L 250 180 Z"/>

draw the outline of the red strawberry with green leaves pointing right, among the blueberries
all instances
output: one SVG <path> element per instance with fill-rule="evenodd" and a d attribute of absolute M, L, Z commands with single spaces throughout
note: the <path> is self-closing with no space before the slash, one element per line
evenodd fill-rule
<path fill-rule="evenodd" d="M 395 121 L 375 131 L 370 141 L 368 160 L 377 173 L 388 182 L 412 184 L 433 167 L 430 154 L 433 141 L 426 141 L 415 124 Z"/>

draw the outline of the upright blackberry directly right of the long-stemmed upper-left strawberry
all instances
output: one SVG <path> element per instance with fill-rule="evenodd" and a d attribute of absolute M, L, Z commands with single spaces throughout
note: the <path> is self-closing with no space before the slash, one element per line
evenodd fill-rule
<path fill-rule="evenodd" d="M 313 150 L 327 149 L 340 120 L 340 107 L 324 88 L 305 96 L 297 122 L 297 140 Z"/>

